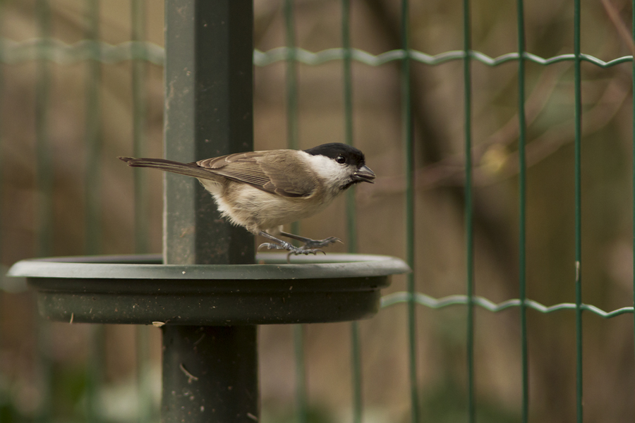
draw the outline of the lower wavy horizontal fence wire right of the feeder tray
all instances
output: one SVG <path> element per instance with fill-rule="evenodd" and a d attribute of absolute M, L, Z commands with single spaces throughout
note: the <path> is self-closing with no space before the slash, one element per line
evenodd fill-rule
<path fill-rule="evenodd" d="M 391 293 L 388 295 L 384 295 L 382 297 L 381 307 L 390 307 L 392 305 L 398 304 L 400 302 L 409 302 L 411 299 L 411 294 L 406 291 L 399 291 L 396 293 Z M 467 295 L 448 295 L 443 298 L 434 298 L 430 295 L 425 295 L 423 293 L 415 293 L 414 302 L 418 305 L 423 305 L 425 307 L 430 307 L 433 309 L 440 309 L 443 307 L 449 307 L 452 305 L 468 305 L 470 303 L 470 298 Z M 505 300 L 503 302 L 492 302 L 484 297 L 474 296 L 472 297 L 473 305 L 477 305 L 478 307 L 482 307 L 490 312 L 502 312 L 505 309 L 520 307 L 523 302 L 521 300 L 514 298 L 512 300 Z M 552 313 L 558 312 L 560 310 L 575 310 L 576 304 L 573 302 L 561 302 L 556 305 L 542 305 L 538 301 L 534 300 L 525 300 L 524 305 L 527 308 L 531 308 L 541 313 Z M 597 314 L 600 317 L 604 317 L 608 319 L 610 317 L 616 317 L 620 314 L 633 313 L 634 307 L 622 307 L 619 309 L 615 309 L 611 312 L 605 312 L 603 309 L 599 307 L 595 307 L 595 305 L 591 304 L 581 304 L 580 309 L 587 312 L 592 312 Z"/>

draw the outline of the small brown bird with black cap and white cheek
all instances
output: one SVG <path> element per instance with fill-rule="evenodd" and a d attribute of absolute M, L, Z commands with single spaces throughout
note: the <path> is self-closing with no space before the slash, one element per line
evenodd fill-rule
<path fill-rule="evenodd" d="M 221 215 L 270 242 L 258 247 L 286 250 L 290 255 L 324 253 L 322 247 L 341 242 L 313 240 L 282 231 L 282 226 L 321 212 L 339 194 L 357 183 L 375 182 L 363 152 L 341 142 L 305 150 L 273 149 L 227 154 L 181 163 L 167 159 L 118 157 L 128 166 L 157 168 L 197 178 L 210 192 Z M 298 240 L 295 245 L 279 237 Z"/>

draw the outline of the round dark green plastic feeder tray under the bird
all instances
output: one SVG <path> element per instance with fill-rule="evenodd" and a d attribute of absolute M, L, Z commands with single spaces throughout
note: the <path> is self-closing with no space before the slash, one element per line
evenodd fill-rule
<path fill-rule="evenodd" d="M 54 321 L 234 326 L 372 317 L 400 259 L 265 253 L 259 264 L 164 265 L 159 255 L 28 259 L 9 276 L 28 279 L 40 313 Z"/>

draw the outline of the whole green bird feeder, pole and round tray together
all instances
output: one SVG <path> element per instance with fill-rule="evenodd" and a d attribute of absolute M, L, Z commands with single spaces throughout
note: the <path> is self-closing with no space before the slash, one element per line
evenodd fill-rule
<path fill-rule="evenodd" d="M 167 0 L 164 153 L 253 149 L 253 2 Z M 115 158 L 113 158 L 115 159 Z M 257 326 L 372 317 L 409 267 L 375 255 L 255 255 L 193 178 L 164 176 L 163 255 L 30 259 L 11 267 L 54 321 L 155 324 L 162 422 L 259 418 Z"/>

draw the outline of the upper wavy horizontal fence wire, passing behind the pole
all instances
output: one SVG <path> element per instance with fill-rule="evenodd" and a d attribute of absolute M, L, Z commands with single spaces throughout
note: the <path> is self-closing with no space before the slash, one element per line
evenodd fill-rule
<path fill-rule="evenodd" d="M 289 60 L 306 65 L 321 65 L 329 61 L 344 60 L 347 50 L 343 48 L 325 49 L 312 52 L 299 47 L 277 47 L 268 51 L 255 49 L 253 63 L 255 66 L 267 66 L 279 61 Z M 368 66 L 381 66 L 392 61 L 401 61 L 406 55 L 411 61 L 426 65 L 440 65 L 449 61 L 462 61 L 466 56 L 488 66 L 499 66 L 503 63 L 518 61 L 520 54 L 512 52 L 501 56 L 491 57 L 480 51 L 463 50 L 445 51 L 440 54 L 425 54 L 422 51 L 404 49 L 386 51 L 381 54 L 370 54 L 361 49 L 350 49 L 351 59 Z M 73 64 L 85 60 L 101 61 L 102 63 L 119 63 L 129 60 L 145 60 L 155 65 L 162 66 L 165 60 L 163 47 L 152 42 L 122 42 L 121 44 L 108 44 L 89 39 L 83 39 L 74 44 L 66 44 L 59 39 L 28 39 L 16 42 L 11 39 L 0 39 L 0 63 L 18 64 L 26 61 L 49 60 L 59 64 Z M 559 54 L 548 58 L 537 56 L 528 52 L 523 53 L 523 59 L 539 65 L 551 65 L 563 61 L 575 61 L 575 54 Z M 580 54 L 580 60 L 593 63 L 600 68 L 610 68 L 633 61 L 633 56 L 622 56 L 610 61 L 603 61 L 590 54 Z"/>

